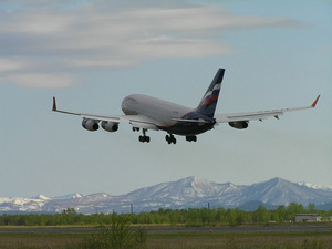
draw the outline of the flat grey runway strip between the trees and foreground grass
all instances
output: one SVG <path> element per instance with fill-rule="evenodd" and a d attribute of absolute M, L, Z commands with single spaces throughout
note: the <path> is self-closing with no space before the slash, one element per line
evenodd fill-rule
<path fill-rule="evenodd" d="M 133 228 L 135 230 L 136 228 Z M 291 225 L 291 226 L 241 226 L 241 227 L 145 227 L 147 234 L 193 234 L 193 232 L 322 232 L 331 231 L 332 225 Z M 6 228 L 0 227 L 0 234 L 93 234 L 96 228 Z"/>

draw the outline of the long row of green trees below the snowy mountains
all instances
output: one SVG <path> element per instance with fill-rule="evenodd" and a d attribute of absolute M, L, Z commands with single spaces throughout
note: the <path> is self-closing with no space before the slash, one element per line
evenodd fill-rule
<path fill-rule="evenodd" d="M 330 220 L 332 209 L 329 211 L 317 210 L 313 204 L 304 208 L 301 204 L 291 203 L 289 206 L 280 205 L 277 209 L 269 210 L 259 206 L 255 211 L 245 211 L 239 208 L 188 208 L 188 209 L 158 209 L 157 211 L 131 214 L 131 224 L 170 224 L 176 226 L 238 226 L 241 224 L 267 224 L 294 221 L 297 214 L 319 214 L 323 219 Z M 83 215 L 74 208 L 68 208 L 61 214 L 24 214 L 2 215 L 0 226 L 64 226 L 64 225 L 110 225 L 114 214 Z M 128 214 L 117 215 L 128 216 Z"/>

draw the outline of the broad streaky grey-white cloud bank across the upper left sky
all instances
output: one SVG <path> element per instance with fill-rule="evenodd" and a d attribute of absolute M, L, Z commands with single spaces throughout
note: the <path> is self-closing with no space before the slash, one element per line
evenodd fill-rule
<path fill-rule="evenodd" d="M 297 24 L 184 2 L 177 7 L 174 2 L 173 7 L 136 4 L 135 9 L 116 8 L 117 1 L 64 2 L 38 6 L 33 1 L 32 7 L 23 4 L 1 13 L 0 46 L 6 49 L 0 55 L 7 58 L 0 60 L 0 71 L 7 73 L 3 79 L 33 87 L 71 86 L 79 77 L 63 72 L 72 69 L 114 69 L 156 58 L 231 53 L 235 50 L 220 41 L 227 30 Z M 24 79 L 30 83 L 24 84 Z"/>

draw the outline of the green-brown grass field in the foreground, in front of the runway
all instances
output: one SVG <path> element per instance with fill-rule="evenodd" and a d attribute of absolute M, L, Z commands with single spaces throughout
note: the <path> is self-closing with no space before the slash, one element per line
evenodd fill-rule
<path fill-rule="evenodd" d="M 1 249 L 76 249 L 87 234 L 0 234 Z M 332 232 L 149 234 L 144 249 L 332 249 Z"/>

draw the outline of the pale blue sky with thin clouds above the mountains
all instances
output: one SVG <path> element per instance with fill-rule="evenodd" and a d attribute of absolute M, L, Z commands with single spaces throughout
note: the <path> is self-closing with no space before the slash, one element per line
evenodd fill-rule
<path fill-rule="evenodd" d="M 332 186 L 332 2 L 1 1 L 0 196 L 121 195 L 197 176 Z M 195 107 L 225 68 L 217 113 L 315 110 L 221 124 L 198 143 L 87 132 L 65 110 L 122 114 L 144 93 Z"/>

